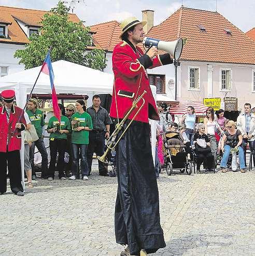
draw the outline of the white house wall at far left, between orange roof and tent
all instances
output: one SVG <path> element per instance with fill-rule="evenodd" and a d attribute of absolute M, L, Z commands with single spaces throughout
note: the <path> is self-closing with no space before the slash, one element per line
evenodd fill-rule
<path fill-rule="evenodd" d="M 0 43 L 0 66 L 8 67 L 8 75 L 24 70 L 24 65 L 18 64 L 19 60 L 13 57 L 16 50 L 24 48 L 24 45 Z"/>

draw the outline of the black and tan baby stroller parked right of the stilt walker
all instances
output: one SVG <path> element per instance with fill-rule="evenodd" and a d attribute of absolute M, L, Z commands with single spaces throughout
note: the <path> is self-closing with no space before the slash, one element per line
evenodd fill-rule
<path fill-rule="evenodd" d="M 177 169 L 181 173 L 186 171 L 192 173 L 192 163 L 188 160 L 186 146 L 180 140 L 178 132 L 166 132 L 164 136 L 164 160 L 167 175 L 172 175 L 173 170 Z"/>

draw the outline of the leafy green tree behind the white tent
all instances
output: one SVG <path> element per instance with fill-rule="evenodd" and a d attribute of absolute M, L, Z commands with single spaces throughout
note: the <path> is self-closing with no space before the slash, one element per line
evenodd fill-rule
<path fill-rule="evenodd" d="M 50 46 L 52 61 L 66 60 L 97 70 L 105 68 L 106 58 L 103 50 L 86 51 L 92 40 L 90 28 L 86 28 L 81 21 L 70 21 L 68 11 L 69 8 L 60 1 L 43 16 L 40 34 L 32 34 L 25 49 L 15 52 L 14 56 L 20 58 L 19 63 L 24 64 L 25 69 L 41 65 Z"/>

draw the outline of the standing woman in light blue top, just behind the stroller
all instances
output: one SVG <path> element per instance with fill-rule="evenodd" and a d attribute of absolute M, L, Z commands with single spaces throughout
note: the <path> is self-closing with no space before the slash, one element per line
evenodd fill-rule
<path fill-rule="evenodd" d="M 193 145 L 194 129 L 196 123 L 195 109 L 193 106 L 188 106 L 187 111 L 188 113 L 181 117 L 180 123 L 185 123 L 185 133 L 187 134 L 187 137 L 190 140 L 190 144 Z"/>

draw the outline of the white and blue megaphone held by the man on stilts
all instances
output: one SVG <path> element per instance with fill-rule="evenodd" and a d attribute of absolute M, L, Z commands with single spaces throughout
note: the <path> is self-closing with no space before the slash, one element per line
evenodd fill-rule
<path fill-rule="evenodd" d="M 177 39 L 173 42 L 165 42 L 159 39 L 145 37 L 143 44 L 146 48 L 151 48 L 155 46 L 159 50 L 166 51 L 171 54 L 175 58 L 175 60 L 179 60 L 182 52 L 183 41 L 182 38 Z"/>

